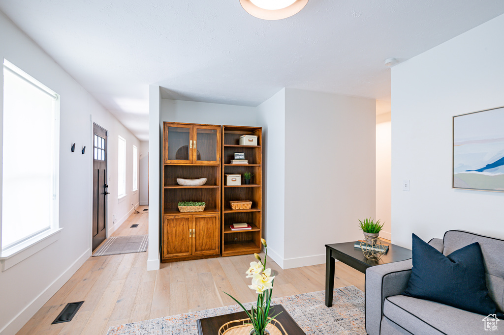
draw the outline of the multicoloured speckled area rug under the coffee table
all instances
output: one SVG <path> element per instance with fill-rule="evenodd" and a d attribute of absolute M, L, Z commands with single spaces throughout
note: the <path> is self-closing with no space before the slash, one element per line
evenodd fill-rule
<path fill-rule="evenodd" d="M 283 305 L 306 335 L 366 333 L 364 292 L 355 286 L 335 289 L 330 308 L 325 305 L 325 291 L 276 298 L 272 304 Z M 245 307 L 249 306 L 250 303 L 245 304 Z M 198 335 L 197 319 L 240 310 L 238 305 L 233 305 L 122 324 L 110 327 L 107 335 Z"/>

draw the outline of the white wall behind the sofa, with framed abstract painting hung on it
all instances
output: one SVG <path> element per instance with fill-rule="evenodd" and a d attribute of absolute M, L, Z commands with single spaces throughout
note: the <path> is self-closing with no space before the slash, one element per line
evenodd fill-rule
<path fill-rule="evenodd" d="M 452 117 L 504 105 L 504 15 L 392 68 L 392 230 L 504 238 L 504 193 L 452 189 Z M 410 191 L 402 191 L 402 180 Z"/>

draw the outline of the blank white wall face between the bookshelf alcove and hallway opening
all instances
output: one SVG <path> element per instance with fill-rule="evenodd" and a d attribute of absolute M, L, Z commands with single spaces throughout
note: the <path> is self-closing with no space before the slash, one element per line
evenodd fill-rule
<path fill-rule="evenodd" d="M 325 263 L 325 244 L 374 217 L 375 113 L 372 99 L 285 90 L 285 268 Z"/>

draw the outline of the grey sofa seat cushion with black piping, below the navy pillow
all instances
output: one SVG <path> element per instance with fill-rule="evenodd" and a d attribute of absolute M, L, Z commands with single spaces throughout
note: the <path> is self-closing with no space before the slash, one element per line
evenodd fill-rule
<path fill-rule="evenodd" d="M 385 299 L 383 313 L 413 334 L 488 334 L 485 316 L 429 300 L 391 296 Z M 493 334 L 504 334 L 499 323 Z"/>

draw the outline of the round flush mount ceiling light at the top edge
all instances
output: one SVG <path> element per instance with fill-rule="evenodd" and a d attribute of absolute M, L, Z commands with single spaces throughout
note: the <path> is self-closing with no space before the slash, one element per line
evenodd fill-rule
<path fill-rule="evenodd" d="M 299 13 L 308 0 L 240 0 L 250 15 L 263 20 L 281 20 Z"/>

